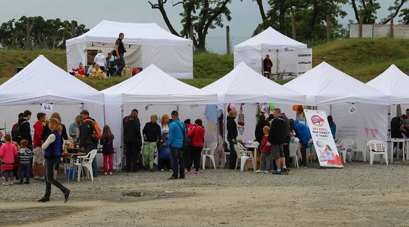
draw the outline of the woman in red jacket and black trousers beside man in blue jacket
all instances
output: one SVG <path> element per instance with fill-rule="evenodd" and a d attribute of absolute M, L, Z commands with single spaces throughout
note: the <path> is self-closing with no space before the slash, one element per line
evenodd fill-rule
<path fill-rule="evenodd" d="M 197 175 L 200 169 L 199 161 L 201 150 L 203 149 L 203 140 L 205 140 L 205 127 L 203 127 L 201 119 L 196 119 L 195 126 L 188 129 L 188 137 L 192 140 L 192 155 L 185 174 L 190 174 L 190 169 L 194 163 Z"/>

